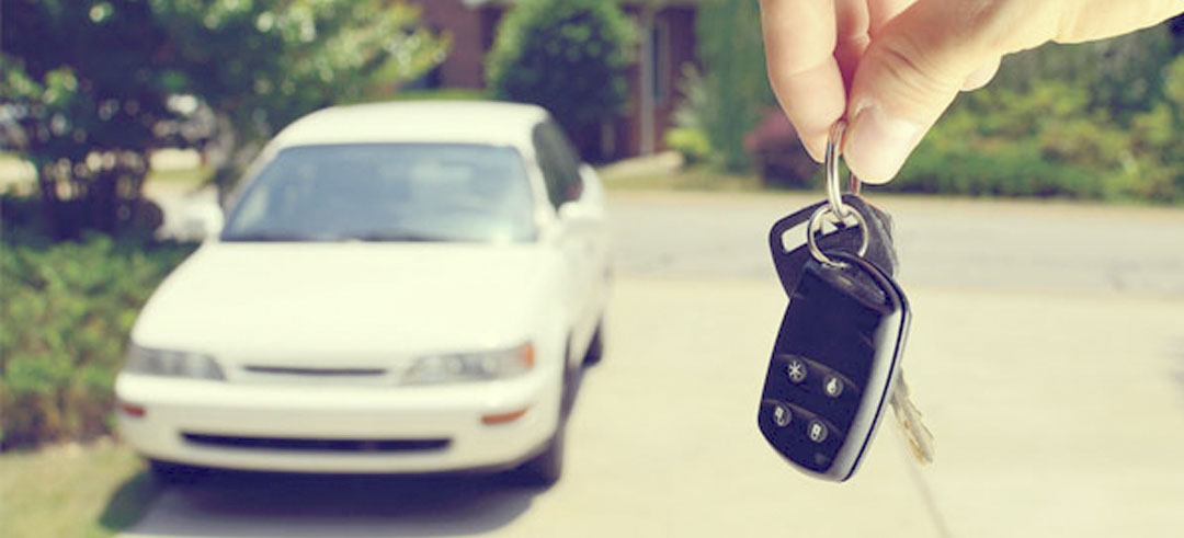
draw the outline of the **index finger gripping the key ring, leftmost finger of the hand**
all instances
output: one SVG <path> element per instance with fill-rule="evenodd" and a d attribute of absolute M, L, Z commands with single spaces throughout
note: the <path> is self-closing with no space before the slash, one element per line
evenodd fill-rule
<path fill-rule="evenodd" d="M 777 101 L 815 161 L 822 162 L 830 125 L 847 109 L 835 59 L 832 0 L 761 0 L 765 63 Z"/>

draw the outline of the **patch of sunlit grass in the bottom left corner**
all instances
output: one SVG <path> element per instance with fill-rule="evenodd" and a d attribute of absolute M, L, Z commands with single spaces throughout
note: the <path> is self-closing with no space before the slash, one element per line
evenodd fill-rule
<path fill-rule="evenodd" d="M 0 454 L 0 529 L 7 538 L 115 536 L 143 516 L 157 492 L 143 461 L 116 442 Z"/>

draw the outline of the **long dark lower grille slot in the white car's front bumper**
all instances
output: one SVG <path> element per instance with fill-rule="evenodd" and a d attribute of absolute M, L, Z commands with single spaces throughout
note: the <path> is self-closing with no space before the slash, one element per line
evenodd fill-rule
<path fill-rule="evenodd" d="M 295 439 L 295 437 L 242 437 L 231 435 L 207 435 L 182 433 L 186 441 L 194 445 L 245 448 L 259 451 L 298 452 L 432 452 L 448 448 L 448 439 Z"/>

